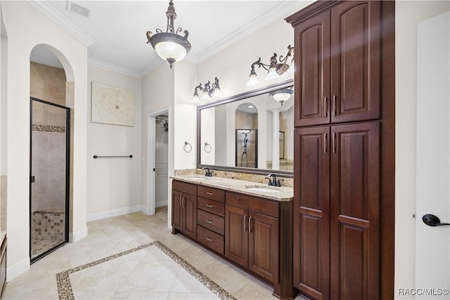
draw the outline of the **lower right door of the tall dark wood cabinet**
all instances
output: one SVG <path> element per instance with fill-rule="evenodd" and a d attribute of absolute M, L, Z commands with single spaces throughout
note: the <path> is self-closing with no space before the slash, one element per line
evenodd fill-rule
<path fill-rule="evenodd" d="M 379 122 L 331 127 L 330 282 L 334 299 L 380 298 L 379 131 Z"/>

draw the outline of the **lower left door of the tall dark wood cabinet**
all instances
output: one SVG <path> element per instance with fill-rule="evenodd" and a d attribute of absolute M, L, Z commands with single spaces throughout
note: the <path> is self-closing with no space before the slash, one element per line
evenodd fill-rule
<path fill-rule="evenodd" d="M 294 286 L 328 299 L 330 126 L 295 129 L 294 140 Z"/>

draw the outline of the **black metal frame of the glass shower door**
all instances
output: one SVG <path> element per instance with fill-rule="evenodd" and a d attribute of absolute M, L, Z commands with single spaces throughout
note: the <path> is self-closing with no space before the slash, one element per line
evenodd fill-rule
<path fill-rule="evenodd" d="M 32 230 L 32 131 L 33 131 L 33 101 L 37 101 L 40 103 L 44 103 L 46 105 L 51 105 L 55 107 L 59 107 L 61 109 L 65 110 L 65 216 L 64 216 L 64 242 L 61 242 L 57 246 L 47 250 L 46 252 L 43 252 L 42 254 L 39 254 L 38 256 L 32 258 L 32 237 L 31 237 L 31 230 Z M 64 244 L 69 242 L 69 221 L 70 221 L 70 107 L 65 107 L 63 105 L 59 105 L 56 103 L 51 103 L 46 100 L 41 100 L 38 98 L 30 97 L 30 262 L 34 263 L 35 261 L 38 261 L 39 259 L 43 258 L 47 254 L 50 254 L 51 252 L 55 251 L 59 247 L 62 247 Z"/>

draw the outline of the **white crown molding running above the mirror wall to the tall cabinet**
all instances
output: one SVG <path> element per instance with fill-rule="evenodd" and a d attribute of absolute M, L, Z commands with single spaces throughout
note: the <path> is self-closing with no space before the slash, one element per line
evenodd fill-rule
<path fill-rule="evenodd" d="M 258 18 L 248 23 L 248 25 L 245 25 L 239 30 L 236 30 L 236 32 L 229 34 L 227 37 L 224 37 L 224 39 L 221 39 L 216 44 L 205 48 L 205 50 L 198 53 L 197 56 L 191 56 L 190 58 L 186 56 L 186 59 L 188 59 L 192 63 L 201 63 L 203 60 L 206 60 L 207 58 L 214 56 L 220 51 L 225 50 L 229 46 L 237 43 L 241 39 L 244 39 L 248 35 L 261 30 L 263 27 L 270 25 L 272 22 L 287 18 L 289 15 L 292 15 L 296 11 L 300 11 L 300 9 L 309 6 L 309 4 L 315 1 L 316 0 L 283 1 L 283 3 L 279 4 L 274 9 L 271 9 L 270 11 L 264 13 L 264 15 L 260 15 Z"/>

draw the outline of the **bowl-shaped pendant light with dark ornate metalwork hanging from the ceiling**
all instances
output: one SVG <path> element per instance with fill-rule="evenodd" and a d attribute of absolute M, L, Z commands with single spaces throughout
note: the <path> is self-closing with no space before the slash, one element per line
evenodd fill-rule
<path fill-rule="evenodd" d="M 191 50 L 191 43 L 188 41 L 189 32 L 184 30 L 184 37 L 179 35 L 181 27 L 176 32 L 174 30 L 174 20 L 176 19 L 176 12 L 174 3 L 169 1 L 169 7 L 167 8 L 167 30 L 162 32 L 159 28 L 156 33 L 152 35 L 152 32 L 147 32 L 147 44 L 150 43 L 155 49 L 158 56 L 163 60 L 167 60 L 172 69 L 172 65 L 176 61 L 181 61 L 186 54 Z"/>

